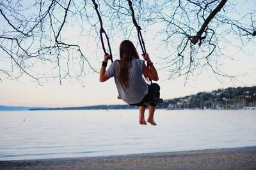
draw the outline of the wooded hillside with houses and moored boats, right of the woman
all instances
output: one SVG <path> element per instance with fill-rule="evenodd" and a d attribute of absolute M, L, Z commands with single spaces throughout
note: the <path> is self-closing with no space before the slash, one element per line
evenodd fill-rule
<path fill-rule="evenodd" d="M 211 109 L 211 110 L 241 110 L 256 108 L 256 86 L 218 89 L 212 92 L 165 100 L 159 108 L 169 110 L 180 109 Z"/>

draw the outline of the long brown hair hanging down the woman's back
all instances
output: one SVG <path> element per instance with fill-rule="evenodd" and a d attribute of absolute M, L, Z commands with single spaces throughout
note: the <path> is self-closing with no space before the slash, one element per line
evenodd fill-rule
<path fill-rule="evenodd" d="M 129 40 L 122 41 L 119 51 L 121 61 L 118 78 L 122 87 L 126 89 L 129 87 L 129 68 L 131 67 L 131 60 L 139 59 L 140 57 L 135 46 Z"/>

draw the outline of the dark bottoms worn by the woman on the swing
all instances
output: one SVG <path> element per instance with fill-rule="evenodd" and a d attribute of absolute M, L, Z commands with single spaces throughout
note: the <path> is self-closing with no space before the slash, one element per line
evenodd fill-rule
<path fill-rule="evenodd" d="M 148 85 L 148 94 L 145 95 L 142 101 L 140 103 L 135 103 L 130 105 L 147 107 L 147 104 L 148 104 L 149 106 L 156 107 L 157 103 L 154 101 L 154 99 L 159 97 L 160 97 L 160 86 L 157 85 L 157 83 L 152 83 L 151 85 Z"/>

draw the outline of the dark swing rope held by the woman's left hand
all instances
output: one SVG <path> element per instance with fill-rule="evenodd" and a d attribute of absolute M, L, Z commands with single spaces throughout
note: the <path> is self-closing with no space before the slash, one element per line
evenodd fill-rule
<path fill-rule="evenodd" d="M 101 41 L 101 45 L 102 45 L 103 51 L 104 51 L 105 54 L 107 54 L 106 48 L 105 48 L 105 45 L 104 45 L 104 39 L 103 39 L 103 35 L 102 35 L 102 34 L 104 34 L 105 37 L 106 37 L 106 39 L 107 39 L 110 60 L 111 60 L 111 62 L 113 62 L 112 52 L 111 52 L 111 46 L 110 46 L 110 43 L 109 43 L 108 34 L 106 33 L 106 31 L 105 31 L 104 28 L 103 28 L 102 19 L 101 19 L 101 17 L 100 17 L 100 12 L 99 12 L 99 10 L 98 10 L 98 4 L 95 2 L 95 0 L 92 0 L 92 2 L 93 2 L 93 4 L 94 4 L 94 9 L 95 9 L 95 11 L 97 12 L 97 15 L 98 15 L 98 18 L 99 18 L 99 21 L 100 21 L 100 41 Z"/>

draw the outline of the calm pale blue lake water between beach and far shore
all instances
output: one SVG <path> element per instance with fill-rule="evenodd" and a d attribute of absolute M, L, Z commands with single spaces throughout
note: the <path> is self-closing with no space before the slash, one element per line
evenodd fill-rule
<path fill-rule="evenodd" d="M 0 111 L 0 160 L 172 152 L 256 145 L 256 111 Z"/>

